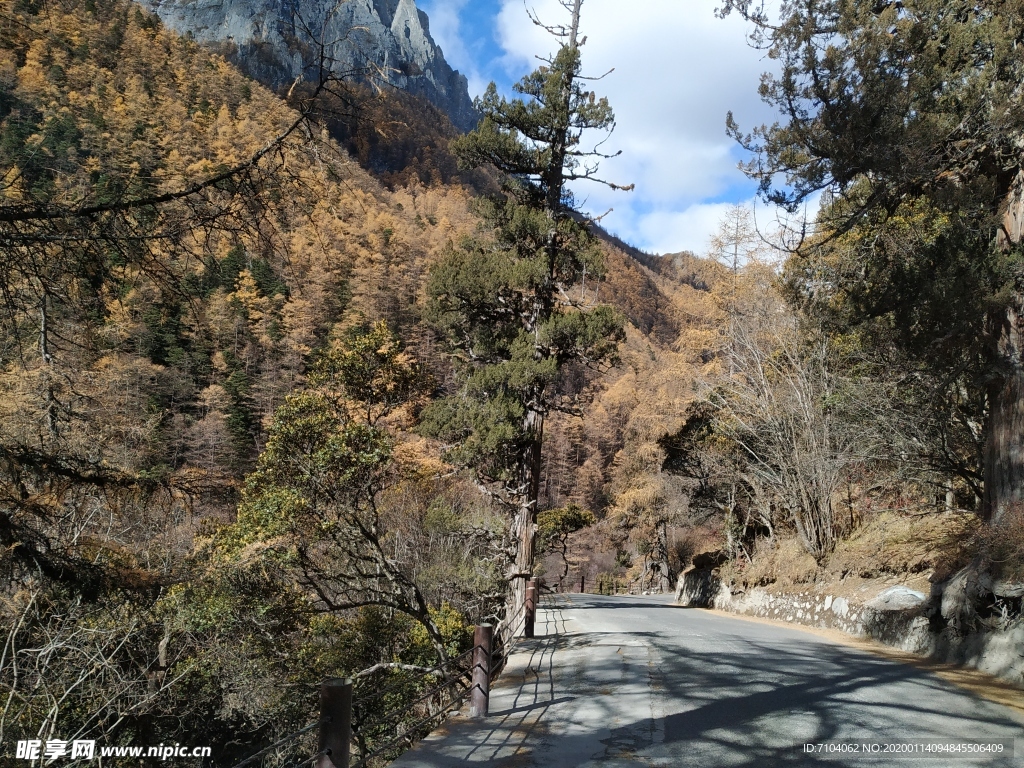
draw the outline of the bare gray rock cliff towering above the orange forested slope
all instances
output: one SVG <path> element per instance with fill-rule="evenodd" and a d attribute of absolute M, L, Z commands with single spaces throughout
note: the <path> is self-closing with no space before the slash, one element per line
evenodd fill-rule
<path fill-rule="evenodd" d="M 369 65 L 422 96 L 457 128 L 477 121 L 466 78 L 444 60 L 415 0 L 141 0 L 163 23 L 198 42 L 227 45 L 271 86 L 315 80 L 319 41 L 335 73 Z"/>

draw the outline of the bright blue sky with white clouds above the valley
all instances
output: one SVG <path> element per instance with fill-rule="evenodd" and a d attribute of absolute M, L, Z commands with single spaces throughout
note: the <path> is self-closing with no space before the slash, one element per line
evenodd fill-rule
<path fill-rule="evenodd" d="M 596 85 L 615 110 L 605 163 L 631 194 L 594 184 L 577 189 L 589 213 L 613 212 L 608 229 L 655 253 L 703 253 L 725 209 L 753 203 L 754 185 L 736 169 L 742 155 L 725 135 L 732 110 L 743 128 L 772 122 L 757 89 L 771 66 L 745 40 L 735 17 L 715 17 L 721 0 L 586 0 L 582 31 L 585 71 L 615 71 Z M 546 22 L 564 20 L 557 0 L 528 0 Z M 447 61 L 467 76 L 472 95 L 494 80 L 504 92 L 555 43 L 530 24 L 523 0 L 418 0 Z M 766 228 L 774 214 L 757 210 Z"/>

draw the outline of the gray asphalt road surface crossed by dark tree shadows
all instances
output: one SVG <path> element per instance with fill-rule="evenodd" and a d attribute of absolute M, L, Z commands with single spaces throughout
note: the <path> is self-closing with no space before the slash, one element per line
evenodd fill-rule
<path fill-rule="evenodd" d="M 567 595 L 537 634 L 486 720 L 449 720 L 395 768 L 1024 766 L 1013 710 L 799 630 Z"/>

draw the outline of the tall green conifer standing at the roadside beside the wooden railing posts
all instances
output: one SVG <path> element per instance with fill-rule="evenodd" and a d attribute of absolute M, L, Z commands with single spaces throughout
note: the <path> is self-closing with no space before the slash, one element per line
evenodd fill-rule
<path fill-rule="evenodd" d="M 632 187 L 598 178 L 598 162 L 610 156 L 582 144 L 586 131 L 610 133 L 614 116 L 581 76 L 583 0 L 560 2 L 568 26 L 545 27 L 559 40 L 555 56 L 515 86 L 522 98 L 505 99 L 492 83 L 478 101 L 479 127 L 453 142 L 464 166 L 503 174 L 503 195 L 481 205 L 494 240 L 453 248 L 428 289 L 429 318 L 456 352 L 460 379 L 424 414 L 424 427 L 512 511 L 512 614 L 534 569 L 545 418 L 573 408 L 566 372 L 612 362 L 624 336 L 610 307 L 586 306 L 585 293 L 571 290 L 600 273 L 601 259 L 566 185 Z"/>

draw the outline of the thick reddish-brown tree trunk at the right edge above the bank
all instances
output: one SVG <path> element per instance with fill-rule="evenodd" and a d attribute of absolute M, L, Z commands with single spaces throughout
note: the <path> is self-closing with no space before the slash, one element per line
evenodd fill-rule
<path fill-rule="evenodd" d="M 988 392 L 985 437 L 985 496 L 982 513 L 998 523 L 1007 511 L 1024 502 L 1024 316 L 1007 310 L 999 328 L 1004 373 Z"/>

